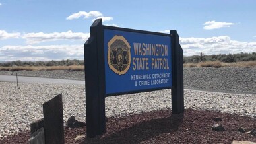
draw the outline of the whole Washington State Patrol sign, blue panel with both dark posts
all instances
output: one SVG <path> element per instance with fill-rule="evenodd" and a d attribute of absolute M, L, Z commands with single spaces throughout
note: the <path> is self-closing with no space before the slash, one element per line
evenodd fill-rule
<path fill-rule="evenodd" d="M 170 34 L 102 25 L 95 20 L 84 44 L 86 135 L 106 132 L 105 98 L 172 89 L 172 114 L 184 112 L 183 50 Z"/>

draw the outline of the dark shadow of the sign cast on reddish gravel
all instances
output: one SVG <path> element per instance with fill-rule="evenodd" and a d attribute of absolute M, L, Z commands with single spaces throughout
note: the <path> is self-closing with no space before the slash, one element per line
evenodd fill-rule
<path fill-rule="evenodd" d="M 106 137 L 86 138 L 83 143 L 140 143 L 162 133 L 173 133 L 183 123 L 184 114 L 172 114 L 168 118 L 153 119 L 135 124 Z"/>

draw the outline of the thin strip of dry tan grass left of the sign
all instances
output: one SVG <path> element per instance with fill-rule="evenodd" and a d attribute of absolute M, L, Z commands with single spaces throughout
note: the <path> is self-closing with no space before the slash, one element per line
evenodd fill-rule
<path fill-rule="evenodd" d="M 0 67 L 0 71 L 53 71 L 53 70 L 68 70 L 68 71 L 84 71 L 84 65 L 70 66 L 51 66 L 51 67 L 36 67 L 36 66 L 18 66 L 18 67 Z"/>

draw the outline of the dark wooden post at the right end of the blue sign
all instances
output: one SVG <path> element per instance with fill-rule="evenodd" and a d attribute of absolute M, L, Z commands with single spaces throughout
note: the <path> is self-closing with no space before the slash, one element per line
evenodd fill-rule
<path fill-rule="evenodd" d="M 176 30 L 172 34 L 172 114 L 184 113 L 183 50 Z"/>

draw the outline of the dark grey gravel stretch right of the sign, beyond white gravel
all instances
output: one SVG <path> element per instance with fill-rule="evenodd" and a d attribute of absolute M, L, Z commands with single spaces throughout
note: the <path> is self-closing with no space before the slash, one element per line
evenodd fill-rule
<path fill-rule="evenodd" d="M 185 68 L 184 86 L 256 94 L 256 67 Z"/>

